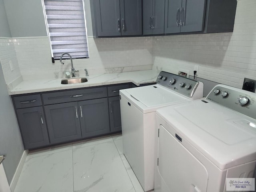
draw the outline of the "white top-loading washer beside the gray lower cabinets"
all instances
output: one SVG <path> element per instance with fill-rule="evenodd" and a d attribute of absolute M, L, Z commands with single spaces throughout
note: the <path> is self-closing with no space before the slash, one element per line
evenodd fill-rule
<path fill-rule="evenodd" d="M 203 96 L 202 82 L 168 72 L 156 83 L 120 90 L 124 155 L 144 191 L 154 189 L 156 109 Z"/>

